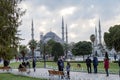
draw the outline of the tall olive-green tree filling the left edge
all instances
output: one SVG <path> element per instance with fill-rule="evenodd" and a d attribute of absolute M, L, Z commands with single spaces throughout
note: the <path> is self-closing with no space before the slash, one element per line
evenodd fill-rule
<path fill-rule="evenodd" d="M 0 0 L 0 57 L 10 60 L 17 53 L 20 17 L 25 13 L 18 7 L 22 0 Z M 16 52 L 15 52 L 16 51 Z"/>

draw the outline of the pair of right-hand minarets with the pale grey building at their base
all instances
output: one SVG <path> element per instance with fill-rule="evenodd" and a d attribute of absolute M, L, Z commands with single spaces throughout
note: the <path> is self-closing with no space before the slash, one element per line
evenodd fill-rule
<path fill-rule="evenodd" d="M 97 35 L 97 31 L 98 31 L 98 35 Z M 116 54 L 116 51 L 114 48 L 112 48 L 111 50 L 108 50 L 106 48 L 105 43 L 102 43 L 102 35 L 101 35 L 102 29 L 101 29 L 101 24 L 100 24 L 100 20 L 99 20 L 99 25 L 98 25 L 98 30 L 95 27 L 95 41 L 94 41 L 94 46 L 93 46 L 93 52 L 92 55 L 96 55 L 96 56 L 104 56 L 105 52 L 109 53 L 109 56 L 113 56 Z"/>

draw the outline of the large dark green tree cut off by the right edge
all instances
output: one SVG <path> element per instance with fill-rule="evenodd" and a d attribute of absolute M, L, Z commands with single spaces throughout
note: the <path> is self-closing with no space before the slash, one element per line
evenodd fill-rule
<path fill-rule="evenodd" d="M 109 28 L 109 32 L 104 33 L 104 41 L 108 49 L 115 48 L 117 52 L 120 51 L 120 25 L 115 25 Z"/>

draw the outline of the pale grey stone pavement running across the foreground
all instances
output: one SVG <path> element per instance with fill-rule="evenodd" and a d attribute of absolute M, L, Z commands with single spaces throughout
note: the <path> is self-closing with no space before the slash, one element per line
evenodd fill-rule
<path fill-rule="evenodd" d="M 21 73 L 18 72 L 17 69 L 12 69 L 10 73 L 16 74 L 16 75 L 25 75 L 25 76 L 31 76 L 31 77 L 37 77 L 37 78 L 46 78 L 51 80 L 60 80 L 58 76 L 50 77 L 48 73 L 49 69 L 44 68 L 37 68 L 36 72 L 31 69 L 30 73 L 27 74 L 25 72 Z M 0 73 L 3 72 L 0 70 Z M 64 79 L 66 80 L 66 79 Z M 120 80 L 120 77 L 118 75 L 110 74 L 109 77 L 106 77 L 106 74 L 88 74 L 83 72 L 70 72 L 70 80 Z"/>

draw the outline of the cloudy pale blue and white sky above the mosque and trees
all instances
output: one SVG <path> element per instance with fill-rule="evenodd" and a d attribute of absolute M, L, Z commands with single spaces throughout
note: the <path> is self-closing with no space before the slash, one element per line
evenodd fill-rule
<path fill-rule="evenodd" d="M 26 10 L 19 27 L 28 44 L 31 40 L 31 21 L 34 22 L 34 38 L 40 40 L 40 33 L 55 32 L 61 37 L 62 16 L 68 25 L 68 41 L 89 40 L 95 33 L 100 19 L 102 37 L 110 26 L 120 24 L 120 0 L 25 0 L 19 7 Z M 102 40 L 103 41 L 103 40 Z"/>

